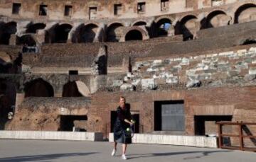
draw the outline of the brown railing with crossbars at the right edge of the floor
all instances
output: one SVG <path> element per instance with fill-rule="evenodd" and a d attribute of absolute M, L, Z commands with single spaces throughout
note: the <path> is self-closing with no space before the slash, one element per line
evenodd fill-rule
<path fill-rule="evenodd" d="M 244 139 L 249 138 L 251 140 L 255 140 L 256 136 L 254 136 L 252 133 L 247 133 L 247 135 L 243 134 L 243 129 L 247 125 L 255 125 L 255 122 L 217 122 L 218 125 L 218 146 L 221 149 L 238 149 L 242 151 L 256 151 L 256 148 L 249 148 L 245 147 Z M 223 134 L 223 125 L 233 125 L 238 126 L 238 134 Z M 247 127 L 246 127 L 247 128 Z M 223 144 L 223 137 L 233 137 L 233 138 L 239 138 L 239 146 L 225 146 Z"/>

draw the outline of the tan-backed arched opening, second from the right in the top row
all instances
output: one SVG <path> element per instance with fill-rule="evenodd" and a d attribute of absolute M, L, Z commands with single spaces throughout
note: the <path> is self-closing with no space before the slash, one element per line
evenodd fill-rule
<path fill-rule="evenodd" d="M 218 28 L 220 26 L 229 25 L 230 16 L 223 11 L 213 11 L 208 14 L 206 18 L 206 23 L 202 26 L 202 28 Z"/>

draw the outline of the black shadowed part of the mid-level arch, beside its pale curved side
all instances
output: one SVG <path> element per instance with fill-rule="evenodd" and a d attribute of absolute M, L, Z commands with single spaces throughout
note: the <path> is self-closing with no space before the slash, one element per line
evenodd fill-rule
<path fill-rule="evenodd" d="M 75 81 L 70 81 L 63 86 L 63 97 L 82 97 Z"/>

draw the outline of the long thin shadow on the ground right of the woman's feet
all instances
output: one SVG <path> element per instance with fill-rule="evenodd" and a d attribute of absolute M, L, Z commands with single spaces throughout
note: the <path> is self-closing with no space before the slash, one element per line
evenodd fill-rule
<path fill-rule="evenodd" d="M 188 160 L 191 158 L 201 158 L 203 156 L 208 156 L 214 153 L 221 153 L 221 152 L 230 152 L 230 151 L 186 151 L 186 152 L 167 152 L 167 153 L 152 153 L 152 154 L 129 154 L 129 159 L 133 158 L 147 158 L 147 157 L 157 157 L 157 156 L 174 156 L 179 154 L 201 154 L 200 156 L 191 156 L 188 158 L 183 158 L 184 160 Z"/>

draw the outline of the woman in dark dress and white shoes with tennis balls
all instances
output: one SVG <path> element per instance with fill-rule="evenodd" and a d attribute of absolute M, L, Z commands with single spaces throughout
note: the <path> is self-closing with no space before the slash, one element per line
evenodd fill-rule
<path fill-rule="evenodd" d="M 129 105 L 125 103 L 125 98 L 120 97 L 119 107 L 117 108 L 117 120 L 114 123 L 114 149 L 112 151 L 112 156 L 115 155 L 117 151 L 117 143 L 122 144 L 122 159 L 126 160 L 125 156 L 127 150 L 127 144 L 132 144 L 132 138 L 127 137 L 127 128 L 134 125 L 131 121 L 131 112 Z"/>

